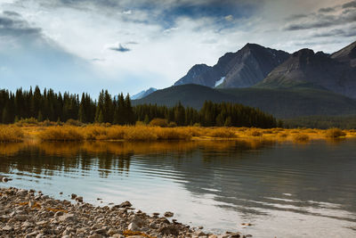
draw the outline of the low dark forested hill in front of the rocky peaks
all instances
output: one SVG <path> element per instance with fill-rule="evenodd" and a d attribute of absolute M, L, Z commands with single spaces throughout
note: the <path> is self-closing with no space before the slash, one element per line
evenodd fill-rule
<path fill-rule="evenodd" d="M 356 114 L 356 101 L 344 95 L 317 88 L 227 88 L 182 85 L 158 90 L 133 104 L 157 103 L 199 109 L 206 100 L 214 103 L 231 102 L 259 108 L 282 119 L 312 115 Z"/>

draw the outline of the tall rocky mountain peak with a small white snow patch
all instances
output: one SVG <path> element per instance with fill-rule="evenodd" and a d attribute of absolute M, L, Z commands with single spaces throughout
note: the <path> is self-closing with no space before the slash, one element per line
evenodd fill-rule
<path fill-rule="evenodd" d="M 213 66 L 193 66 L 174 86 L 197 84 L 210 87 L 248 87 L 265 78 L 271 70 L 285 62 L 289 53 L 247 44 L 236 53 L 225 53 Z"/>

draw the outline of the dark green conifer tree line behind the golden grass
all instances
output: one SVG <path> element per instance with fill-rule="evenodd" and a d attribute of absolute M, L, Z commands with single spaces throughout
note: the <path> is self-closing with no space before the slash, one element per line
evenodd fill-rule
<path fill-rule="evenodd" d="M 35 118 L 65 122 L 68 119 L 83 123 L 110 123 L 134 125 L 136 121 L 148 124 L 152 119 L 166 119 L 177 126 L 203 127 L 277 127 L 280 122 L 270 114 L 237 103 L 212 103 L 206 101 L 200 110 L 157 104 L 133 106 L 129 94 L 112 96 L 108 90 L 101 90 L 98 100 L 89 94 L 61 94 L 53 89 L 41 92 L 38 86 L 33 90 L 19 88 L 15 93 L 0 90 L 0 122 L 10 124 L 20 119 Z"/>

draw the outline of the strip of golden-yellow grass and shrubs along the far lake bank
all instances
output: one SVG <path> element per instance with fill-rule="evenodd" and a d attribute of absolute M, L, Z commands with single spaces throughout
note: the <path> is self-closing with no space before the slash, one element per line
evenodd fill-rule
<path fill-rule="evenodd" d="M 248 128 L 248 127 L 150 127 L 111 125 L 10 125 L 0 126 L 1 142 L 40 141 L 169 141 L 275 139 L 308 142 L 314 139 L 356 137 L 356 130 Z"/>

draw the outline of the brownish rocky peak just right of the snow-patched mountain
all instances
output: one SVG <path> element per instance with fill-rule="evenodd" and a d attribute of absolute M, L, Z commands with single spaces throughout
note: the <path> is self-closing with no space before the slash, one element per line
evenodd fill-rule
<path fill-rule="evenodd" d="M 309 85 L 356 98 L 356 68 L 337 61 L 335 57 L 302 49 L 293 53 L 256 86 L 280 88 Z"/>

